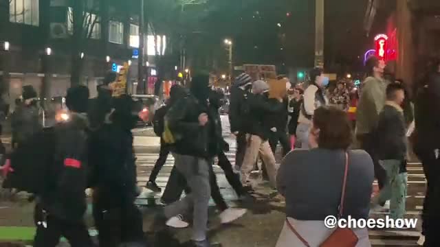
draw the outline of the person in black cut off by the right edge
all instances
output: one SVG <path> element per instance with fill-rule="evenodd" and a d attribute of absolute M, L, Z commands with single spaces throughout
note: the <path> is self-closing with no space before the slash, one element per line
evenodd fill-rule
<path fill-rule="evenodd" d="M 440 62 L 424 80 L 415 101 L 415 154 L 420 158 L 428 181 L 422 212 L 424 246 L 440 246 L 438 229 L 440 222 Z"/>

